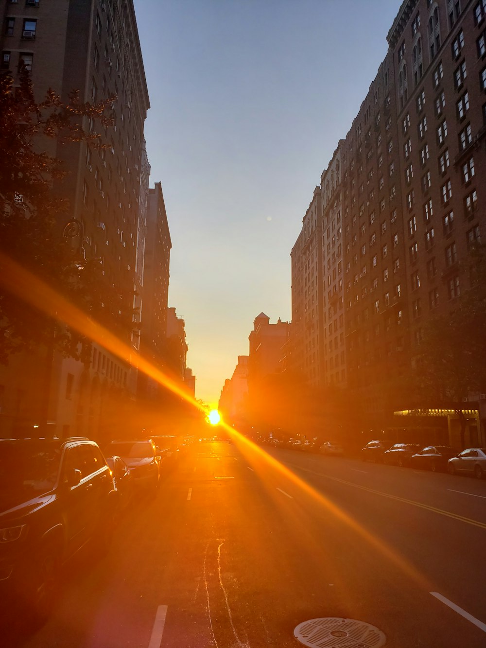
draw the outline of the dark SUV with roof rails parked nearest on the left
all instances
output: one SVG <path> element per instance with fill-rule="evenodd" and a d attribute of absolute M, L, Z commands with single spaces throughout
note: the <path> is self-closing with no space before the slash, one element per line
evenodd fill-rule
<path fill-rule="evenodd" d="M 0 599 L 45 618 L 63 562 L 88 540 L 108 546 L 114 495 L 94 441 L 0 439 Z"/>

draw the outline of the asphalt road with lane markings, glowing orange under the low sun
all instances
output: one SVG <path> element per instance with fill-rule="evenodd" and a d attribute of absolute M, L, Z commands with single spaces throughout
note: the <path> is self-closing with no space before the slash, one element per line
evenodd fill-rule
<path fill-rule="evenodd" d="M 486 481 L 196 443 L 108 557 L 69 565 L 52 618 L 0 645 L 297 648 L 299 623 L 331 617 L 389 648 L 481 648 L 485 547 Z M 315 645 L 359 645 L 342 641 Z"/>

